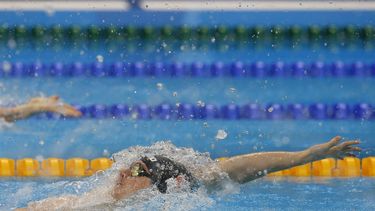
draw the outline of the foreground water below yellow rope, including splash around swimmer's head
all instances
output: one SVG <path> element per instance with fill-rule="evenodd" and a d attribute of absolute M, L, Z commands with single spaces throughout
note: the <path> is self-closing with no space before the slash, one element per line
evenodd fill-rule
<path fill-rule="evenodd" d="M 170 186 L 167 194 L 155 187 L 141 190 L 120 202 L 111 203 L 109 196 L 118 170 L 130 165 L 141 155 L 162 154 L 185 164 L 201 180 L 211 175 L 222 178 L 221 188 L 197 191 Z M 28 202 L 47 197 L 78 195 L 81 201 L 72 205 L 79 210 L 371 210 L 375 208 L 373 178 L 319 179 L 267 177 L 244 185 L 227 180 L 208 153 L 190 148 L 177 148 L 170 142 L 157 142 L 148 147 L 131 147 L 113 155 L 116 163 L 106 171 L 77 180 L 3 179 L 0 183 L 1 210 L 26 206 Z M 203 169 L 203 171 L 201 171 Z M 91 194 L 93 193 L 93 194 Z M 110 204 L 108 204 L 110 203 Z"/>

